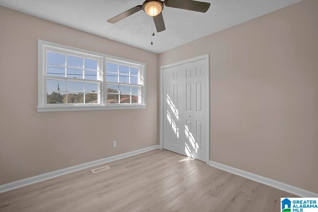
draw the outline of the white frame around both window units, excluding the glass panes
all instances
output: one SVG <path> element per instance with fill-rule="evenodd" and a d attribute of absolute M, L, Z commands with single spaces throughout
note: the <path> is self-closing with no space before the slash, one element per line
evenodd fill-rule
<path fill-rule="evenodd" d="M 99 104 L 46 104 L 46 52 L 54 51 L 63 54 L 72 54 L 80 57 L 88 57 L 99 61 L 100 81 L 100 100 Z M 107 103 L 107 81 L 106 81 L 106 62 L 117 62 L 140 69 L 141 101 L 140 103 Z M 84 110 L 114 110 L 114 109 L 143 109 L 146 108 L 146 64 L 127 60 L 119 57 L 105 55 L 102 53 L 83 50 L 75 47 L 56 44 L 48 41 L 38 40 L 38 112 L 53 111 L 84 111 Z M 88 80 L 89 81 L 89 80 Z"/>

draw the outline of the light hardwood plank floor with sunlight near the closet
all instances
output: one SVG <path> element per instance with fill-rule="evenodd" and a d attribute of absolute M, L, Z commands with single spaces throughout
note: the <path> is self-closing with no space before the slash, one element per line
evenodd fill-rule
<path fill-rule="evenodd" d="M 278 212 L 287 192 L 153 150 L 0 194 L 0 212 Z"/>

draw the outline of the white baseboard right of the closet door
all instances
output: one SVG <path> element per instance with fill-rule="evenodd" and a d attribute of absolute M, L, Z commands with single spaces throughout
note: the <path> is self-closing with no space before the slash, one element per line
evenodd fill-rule
<path fill-rule="evenodd" d="M 304 189 L 301 189 L 301 188 L 298 188 L 295 186 L 291 186 L 291 185 L 288 185 L 288 184 L 285 184 L 285 183 L 282 183 L 282 182 L 279 182 L 276 180 L 272 180 L 272 179 L 269 179 L 269 178 L 266 178 L 266 177 L 263 177 L 263 176 L 260 176 L 257 174 L 253 174 L 253 173 L 250 173 L 247 171 L 243 171 L 243 170 L 231 167 L 231 166 L 227 166 L 227 165 L 224 165 L 222 163 L 218 163 L 218 162 L 214 162 L 214 161 L 210 160 L 209 165 L 213 166 L 215 168 L 239 175 L 241 177 L 245 177 L 247 179 L 250 179 L 250 180 L 253 180 L 253 181 L 256 181 L 256 182 L 259 182 L 259 183 L 262 183 L 262 184 L 265 184 L 265 185 L 268 185 L 268 186 L 271 186 L 271 187 L 274 187 L 274 188 L 277 188 L 277 189 L 280 189 L 283 191 L 286 191 L 288 193 L 291 193 L 291 194 L 294 194 L 294 195 L 297 195 L 300 197 L 307 197 L 307 198 L 318 197 L 318 194 L 316 194 L 314 192 L 307 191 L 307 190 L 304 190 Z"/>

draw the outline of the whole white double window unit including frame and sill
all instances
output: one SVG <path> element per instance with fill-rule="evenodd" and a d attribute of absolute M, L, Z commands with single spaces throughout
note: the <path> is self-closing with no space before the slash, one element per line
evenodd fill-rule
<path fill-rule="evenodd" d="M 145 64 L 39 40 L 38 111 L 145 108 Z"/>

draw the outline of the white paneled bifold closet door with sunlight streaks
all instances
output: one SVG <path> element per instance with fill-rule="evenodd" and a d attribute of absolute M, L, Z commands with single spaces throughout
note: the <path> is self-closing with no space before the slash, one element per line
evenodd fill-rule
<path fill-rule="evenodd" d="M 163 69 L 163 148 L 207 161 L 205 60 Z"/>

